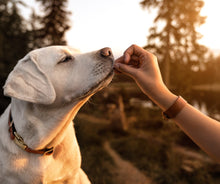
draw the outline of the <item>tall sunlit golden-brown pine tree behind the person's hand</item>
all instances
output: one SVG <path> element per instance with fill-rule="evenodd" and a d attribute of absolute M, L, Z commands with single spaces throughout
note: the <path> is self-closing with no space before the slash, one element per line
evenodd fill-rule
<path fill-rule="evenodd" d="M 178 75 L 177 84 L 184 79 L 187 72 L 204 60 L 206 47 L 198 40 L 202 37 L 196 27 L 205 22 L 200 15 L 204 5 L 202 0 L 143 0 L 142 7 L 157 8 L 155 25 L 150 28 L 146 49 L 151 49 L 162 61 L 162 73 L 165 83 L 170 86 L 171 67 Z M 184 68 L 184 69 L 183 69 Z M 173 77 L 173 75 L 172 75 Z M 179 80 L 177 79 L 179 78 Z M 187 80 L 187 78 L 185 79 Z M 186 81 L 183 81 L 186 82 Z"/>

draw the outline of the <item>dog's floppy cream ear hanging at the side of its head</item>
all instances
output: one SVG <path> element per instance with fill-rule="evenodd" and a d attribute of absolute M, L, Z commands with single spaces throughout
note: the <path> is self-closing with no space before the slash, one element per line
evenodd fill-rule
<path fill-rule="evenodd" d="M 5 96 L 32 103 L 52 104 L 56 98 L 53 85 L 31 54 L 18 62 L 3 88 Z"/>

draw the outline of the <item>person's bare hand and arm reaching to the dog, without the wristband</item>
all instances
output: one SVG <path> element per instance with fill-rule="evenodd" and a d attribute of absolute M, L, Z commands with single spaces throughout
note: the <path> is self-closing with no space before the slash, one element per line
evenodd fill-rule
<path fill-rule="evenodd" d="M 133 78 L 139 88 L 163 111 L 177 99 L 164 84 L 157 58 L 137 45 L 115 61 L 116 73 Z M 173 119 L 206 153 L 220 163 L 220 122 L 187 104 Z"/>

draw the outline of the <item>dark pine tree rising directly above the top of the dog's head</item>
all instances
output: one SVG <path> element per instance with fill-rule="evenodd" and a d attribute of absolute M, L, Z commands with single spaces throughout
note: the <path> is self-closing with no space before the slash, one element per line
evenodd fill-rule
<path fill-rule="evenodd" d="M 37 32 L 38 38 L 42 40 L 42 46 L 64 45 L 65 32 L 70 29 L 66 10 L 68 0 L 37 0 L 44 7 L 45 15 L 41 17 L 42 28 Z"/>

